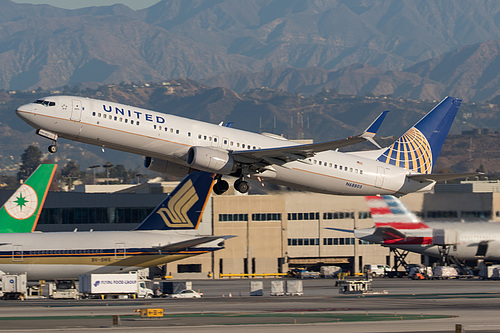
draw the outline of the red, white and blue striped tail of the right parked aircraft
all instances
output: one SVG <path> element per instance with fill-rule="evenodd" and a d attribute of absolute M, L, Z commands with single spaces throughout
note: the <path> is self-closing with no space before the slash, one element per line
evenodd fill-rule
<path fill-rule="evenodd" d="M 432 229 L 392 195 L 365 197 L 375 228 L 357 229 L 356 238 L 379 244 L 432 244 Z"/>

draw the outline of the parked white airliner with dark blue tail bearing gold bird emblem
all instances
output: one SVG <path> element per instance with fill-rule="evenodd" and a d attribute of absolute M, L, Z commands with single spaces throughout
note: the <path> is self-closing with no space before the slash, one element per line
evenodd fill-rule
<path fill-rule="evenodd" d="M 214 174 L 190 174 L 132 231 L 0 234 L 0 270 L 27 273 L 29 280 L 68 280 L 86 273 L 124 273 L 223 249 L 231 236 L 195 233 L 213 183 Z"/>

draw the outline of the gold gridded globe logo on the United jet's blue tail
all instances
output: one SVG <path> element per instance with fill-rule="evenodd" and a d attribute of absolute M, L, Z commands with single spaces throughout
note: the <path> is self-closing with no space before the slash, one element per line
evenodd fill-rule
<path fill-rule="evenodd" d="M 378 161 L 423 174 L 432 172 L 432 150 L 427 138 L 415 127 L 392 144 Z"/>

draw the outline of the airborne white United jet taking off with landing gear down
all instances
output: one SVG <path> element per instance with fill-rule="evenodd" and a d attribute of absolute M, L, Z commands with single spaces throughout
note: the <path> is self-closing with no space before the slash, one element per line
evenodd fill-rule
<path fill-rule="evenodd" d="M 50 96 L 20 106 L 21 119 L 49 138 L 59 137 L 146 156 L 147 168 L 184 176 L 190 170 L 217 174 L 216 194 L 234 176 L 236 190 L 248 191 L 246 178 L 291 188 L 343 195 L 394 194 L 429 190 L 435 181 L 472 174 L 432 174 L 461 100 L 447 97 L 388 148 L 341 153 L 337 149 L 372 141 L 385 113 L 361 135 L 297 144 L 113 102 Z"/>

